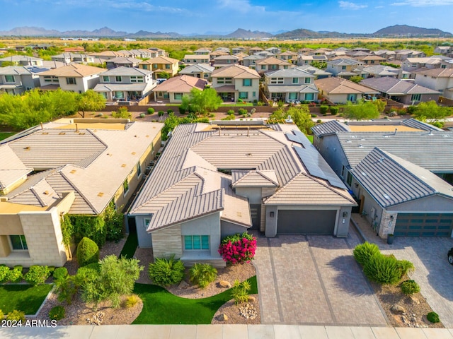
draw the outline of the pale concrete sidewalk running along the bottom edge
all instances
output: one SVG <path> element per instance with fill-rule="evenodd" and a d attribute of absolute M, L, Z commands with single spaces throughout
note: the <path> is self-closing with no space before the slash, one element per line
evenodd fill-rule
<path fill-rule="evenodd" d="M 297 325 L 105 325 L 1 328 L 11 339 L 418 339 L 449 338 L 448 328 Z"/>

